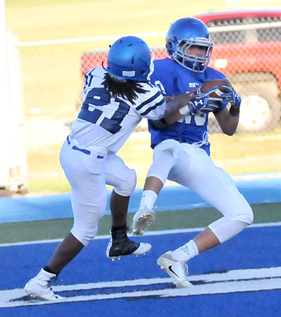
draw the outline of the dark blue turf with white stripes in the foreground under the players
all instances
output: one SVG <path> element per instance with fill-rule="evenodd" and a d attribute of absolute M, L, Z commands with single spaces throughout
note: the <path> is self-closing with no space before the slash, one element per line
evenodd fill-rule
<path fill-rule="evenodd" d="M 203 289 L 195 295 L 181 296 L 173 295 L 176 292 L 173 281 L 156 261 L 165 251 L 185 244 L 198 232 L 135 237 L 138 242 L 150 243 L 151 251 L 146 256 L 128 256 L 120 261 L 106 258 L 108 237 L 96 239 L 52 284 L 52 287 L 63 285 L 58 294 L 68 297 L 68 302 L 35 303 L 34 306 L 23 306 L 22 300 L 15 307 L 8 307 L 8 304 L 16 298 L 12 295 L 14 290 L 22 289 L 27 280 L 46 265 L 58 242 L 7 244 L 0 247 L 0 259 L 4 259 L 0 267 L 0 316 L 280 317 L 280 229 L 280 225 L 246 228 L 227 242 L 191 259 L 188 262 L 189 280 L 194 283 L 194 290 Z M 256 271 L 255 275 L 252 270 Z M 277 270 L 274 275 L 273 270 Z M 215 278 L 232 271 L 229 278 L 220 281 Z M 153 280 L 146 285 L 141 283 L 141 280 L 154 278 L 160 279 L 161 283 L 156 284 Z M 100 282 L 109 284 L 87 287 L 89 283 Z M 265 288 L 263 285 L 267 283 L 271 286 Z M 253 285 L 256 287 L 252 288 Z M 220 291 L 221 287 L 223 291 Z M 203 292 L 206 288 L 208 291 Z M 4 299 L 3 291 L 10 294 L 8 300 Z M 185 292 L 185 289 L 180 291 Z M 163 292 L 170 292 L 170 295 L 159 295 Z M 124 293 L 127 296 L 121 297 Z M 91 295 L 99 298 L 90 299 Z M 107 295 L 111 297 L 106 298 Z M 76 298 L 78 296 L 87 298 L 81 302 Z"/>

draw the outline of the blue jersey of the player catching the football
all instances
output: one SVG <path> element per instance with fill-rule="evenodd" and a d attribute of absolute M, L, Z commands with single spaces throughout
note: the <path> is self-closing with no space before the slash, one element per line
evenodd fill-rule
<path fill-rule="evenodd" d="M 206 68 L 204 73 L 194 73 L 170 58 L 154 61 L 154 73 L 151 75 L 151 83 L 161 89 L 162 94 L 168 96 L 190 92 L 204 82 L 215 79 L 225 79 L 225 75 L 211 67 Z M 221 104 L 214 113 L 222 111 L 226 106 L 227 104 Z M 165 129 L 154 130 L 149 125 L 151 147 L 155 147 L 164 139 L 175 139 L 182 143 L 196 143 L 210 155 L 207 125 L 208 113 L 201 111 L 194 115 L 188 113 Z"/>

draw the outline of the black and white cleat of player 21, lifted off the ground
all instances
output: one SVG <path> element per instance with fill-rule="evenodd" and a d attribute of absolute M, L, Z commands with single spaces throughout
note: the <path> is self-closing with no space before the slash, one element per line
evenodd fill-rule
<path fill-rule="evenodd" d="M 113 261 L 121 256 L 146 254 L 151 250 L 151 244 L 138 243 L 127 237 L 127 228 L 111 231 L 111 240 L 106 249 L 106 256 Z"/>

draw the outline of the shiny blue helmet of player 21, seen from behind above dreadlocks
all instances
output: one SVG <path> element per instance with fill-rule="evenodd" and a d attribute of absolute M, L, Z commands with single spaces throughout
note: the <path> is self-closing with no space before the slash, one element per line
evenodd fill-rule
<path fill-rule="evenodd" d="M 108 73 L 119 80 L 147 82 L 154 70 L 153 56 L 139 37 L 121 37 L 108 51 Z"/>

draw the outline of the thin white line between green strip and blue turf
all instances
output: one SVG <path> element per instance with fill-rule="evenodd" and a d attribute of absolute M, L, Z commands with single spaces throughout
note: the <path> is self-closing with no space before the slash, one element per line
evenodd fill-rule
<path fill-rule="evenodd" d="M 254 223 L 249 225 L 247 228 L 261 228 L 261 227 L 276 227 L 280 226 L 281 221 L 276 223 Z M 186 232 L 198 232 L 203 231 L 205 228 L 189 228 L 189 229 L 172 229 L 172 230 L 158 230 L 158 231 L 146 231 L 144 237 L 149 235 L 173 235 L 174 233 L 186 233 Z M 98 235 L 94 240 L 109 239 L 110 235 Z M 132 234 L 128 234 L 128 237 L 133 237 Z M 24 242 L 13 242 L 13 243 L 1 243 L 0 247 L 13 247 L 17 245 L 28 245 L 28 244 L 43 244 L 43 243 L 54 243 L 61 242 L 63 239 L 53 239 L 53 240 L 35 240 L 35 241 L 24 241 Z"/>

